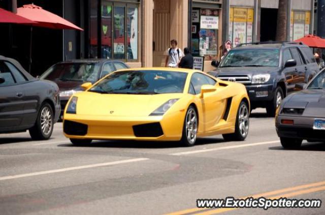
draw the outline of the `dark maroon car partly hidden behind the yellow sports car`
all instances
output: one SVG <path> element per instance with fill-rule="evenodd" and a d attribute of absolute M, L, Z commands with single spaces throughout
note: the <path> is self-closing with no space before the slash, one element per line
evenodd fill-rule
<path fill-rule="evenodd" d="M 119 69 L 129 68 L 121 61 L 107 59 L 84 59 L 59 62 L 51 66 L 40 77 L 54 81 L 60 89 L 61 116 L 69 98 L 83 91 L 85 82 L 94 83 L 105 75 Z"/>

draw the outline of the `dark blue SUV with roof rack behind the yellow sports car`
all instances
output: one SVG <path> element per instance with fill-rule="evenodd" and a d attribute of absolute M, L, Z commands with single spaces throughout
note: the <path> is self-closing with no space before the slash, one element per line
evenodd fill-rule
<path fill-rule="evenodd" d="M 287 94 L 302 90 L 319 71 L 311 49 L 299 42 L 240 44 L 208 72 L 246 86 L 251 109 L 266 107 L 269 116 Z"/>

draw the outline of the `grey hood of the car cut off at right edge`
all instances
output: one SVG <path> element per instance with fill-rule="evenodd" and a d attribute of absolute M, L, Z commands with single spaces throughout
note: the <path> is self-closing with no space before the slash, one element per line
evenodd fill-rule
<path fill-rule="evenodd" d="M 325 118 L 325 90 L 303 90 L 289 95 L 284 108 L 305 108 L 303 116 Z"/>

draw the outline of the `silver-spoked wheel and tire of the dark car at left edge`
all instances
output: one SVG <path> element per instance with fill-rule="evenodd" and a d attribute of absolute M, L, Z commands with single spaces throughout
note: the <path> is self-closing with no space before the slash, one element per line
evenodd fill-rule
<path fill-rule="evenodd" d="M 42 128 L 42 126 L 46 126 L 46 128 Z M 52 135 L 53 127 L 54 114 L 52 107 L 48 103 L 43 103 L 37 114 L 35 125 L 29 128 L 29 135 L 33 140 L 48 140 Z"/>

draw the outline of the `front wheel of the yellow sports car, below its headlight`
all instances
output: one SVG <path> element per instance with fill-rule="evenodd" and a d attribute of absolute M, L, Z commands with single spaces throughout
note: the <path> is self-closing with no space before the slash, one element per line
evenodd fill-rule
<path fill-rule="evenodd" d="M 193 106 L 189 106 L 185 115 L 181 142 L 185 146 L 193 146 L 197 140 L 197 133 L 198 115 Z"/>

